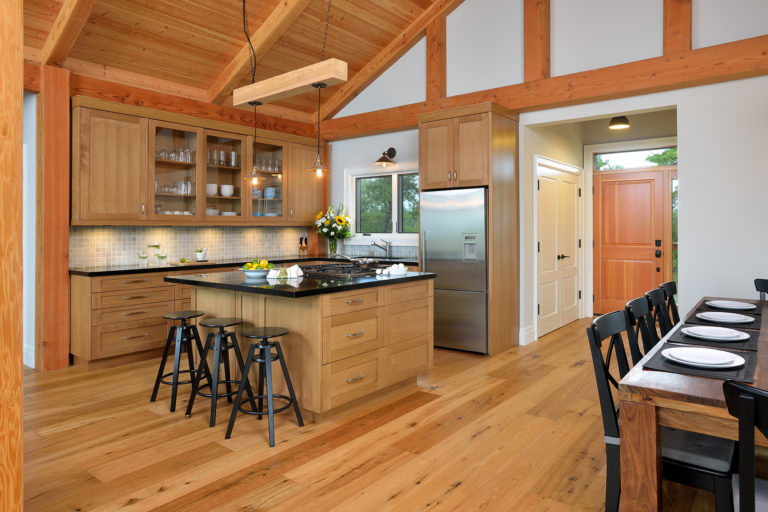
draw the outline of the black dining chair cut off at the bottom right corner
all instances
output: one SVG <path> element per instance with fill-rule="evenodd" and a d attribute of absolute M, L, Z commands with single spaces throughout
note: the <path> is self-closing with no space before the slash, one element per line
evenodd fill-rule
<path fill-rule="evenodd" d="M 768 481 L 755 478 L 755 427 L 768 436 L 768 391 L 741 382 L 723 383 L 725 403 L 739 419 L 739 473 L 733 477 L 734 510 L 768 510 Z"/>

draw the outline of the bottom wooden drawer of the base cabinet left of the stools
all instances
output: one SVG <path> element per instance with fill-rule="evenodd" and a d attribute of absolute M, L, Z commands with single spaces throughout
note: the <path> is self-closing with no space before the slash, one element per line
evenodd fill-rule
<path fill-rule="evenodd" d="M 168 338 L 165 320 L 138 320 L 93 328 L 93 357 L 111 357 L 162 348 Z"/>

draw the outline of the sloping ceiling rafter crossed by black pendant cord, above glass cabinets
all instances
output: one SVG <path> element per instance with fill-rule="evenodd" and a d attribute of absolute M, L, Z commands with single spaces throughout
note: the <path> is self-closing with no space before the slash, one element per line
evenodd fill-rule
<path fill-rule="evenodd" d="M 304 12 L 312 0 L 281 0 L 277 7 L 264 20 L 264 23 L 251 36 L 256 61 L 274 46 L 278 39 L 288 30 L 296 18 Z M 245 38 L 245 36 L 243 36 Z M 246 42 L 235 55 L 219 78 L 208 88 L 208 101 L 221 103 L 232 94 L 232 90 L 243 82 L 250 66 L 251 49 Z"/>

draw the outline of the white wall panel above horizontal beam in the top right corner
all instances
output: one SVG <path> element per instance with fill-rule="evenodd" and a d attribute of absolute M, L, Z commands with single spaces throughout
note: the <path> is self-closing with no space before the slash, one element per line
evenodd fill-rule
<path fill-rule="evenodd" d="M 766 0 L 693 0 L 691 44 L 694 48 L 738 41 L 768 32 Z"/>

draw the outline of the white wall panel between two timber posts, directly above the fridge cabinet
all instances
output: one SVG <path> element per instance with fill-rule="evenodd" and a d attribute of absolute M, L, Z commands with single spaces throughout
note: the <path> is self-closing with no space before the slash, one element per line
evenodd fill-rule
<path fill-rule="evenodd" d="M 523 81 L 523 0 L 465 0 L 446 20 L 448 96 Z"/>

